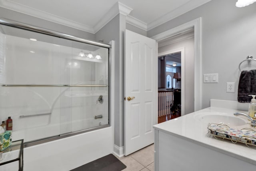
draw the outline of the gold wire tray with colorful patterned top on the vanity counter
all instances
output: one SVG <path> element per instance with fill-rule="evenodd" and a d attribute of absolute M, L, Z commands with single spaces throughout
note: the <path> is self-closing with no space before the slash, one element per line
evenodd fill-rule
<path fill-rule="evenodd" d="M 208 123 L 208 133 L 218 140 L 229 139 L 232 143 L 244 143 L 247 147 L 256 149 L 256 131 L 250 128 L 233 129 L 223 123 Z"/>

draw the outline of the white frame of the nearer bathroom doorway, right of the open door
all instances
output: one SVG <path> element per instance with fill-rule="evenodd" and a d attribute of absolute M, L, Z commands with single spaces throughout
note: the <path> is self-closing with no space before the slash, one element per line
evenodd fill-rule
<path fill-rule="evenodd" d="M 194 111 L 198 111 L 202 107 L 201 87 L 202 87 L 202 71 L 201 71 L 201 17 L 180 26 L 152 36 L 156 40 L 164 40 L 172 35 L 194 27 Z"/>

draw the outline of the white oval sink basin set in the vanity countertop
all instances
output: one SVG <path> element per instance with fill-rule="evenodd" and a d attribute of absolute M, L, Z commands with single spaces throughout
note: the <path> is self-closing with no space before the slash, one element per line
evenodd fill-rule
<path fill-rule="evenodd" d="M 230 116 L 226 113 L 199 113 L 194 115 L 195 119 L 207 123 L 223 123 L 228 126 L 240 126 L 247 123 L 246 119 Z"/>

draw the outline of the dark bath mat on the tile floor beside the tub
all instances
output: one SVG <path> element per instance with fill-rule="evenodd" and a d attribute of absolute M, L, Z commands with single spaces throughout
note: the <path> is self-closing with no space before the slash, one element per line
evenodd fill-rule
<path fill-rule="evenodd" d="M 114 155 L 109 154 L 71 171 L 121 171 L 126 168 Z"/>

